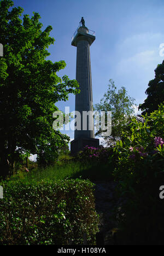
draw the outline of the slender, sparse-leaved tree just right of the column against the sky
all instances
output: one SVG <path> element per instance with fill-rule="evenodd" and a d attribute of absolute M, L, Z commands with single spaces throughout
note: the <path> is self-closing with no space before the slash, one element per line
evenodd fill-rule
<path fill-rule="evenodd" d="M 121 87 L 116 92 L 114 81 L 110 79 L 107 92 L 100 103 L 94 107 L 98 112 L 112 112 L 112 134 L 111 136 L 104 137 L 108 145 L 122 138 L 122 131 L 126 129 L 128 120 L 130 120 L 131 115 L 134 113 L 134 105 L 134 98 L 127 95 L 126 89 Z M 99 129 L 96 135 L 101 136 L 101 133 L 102 131 Z"/>

